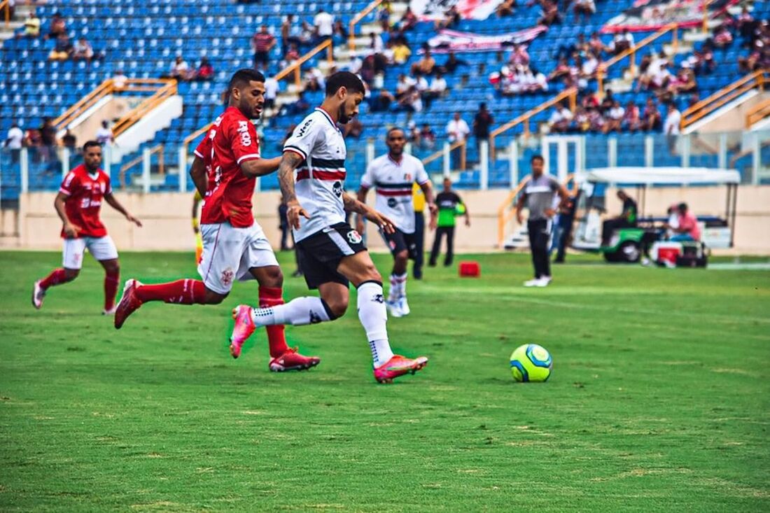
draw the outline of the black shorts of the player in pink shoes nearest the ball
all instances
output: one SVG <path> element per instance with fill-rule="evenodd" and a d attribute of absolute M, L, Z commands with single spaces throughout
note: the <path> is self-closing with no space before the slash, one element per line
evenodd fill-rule
<path fill-rule="evenodd" d="M 317 289 L 323 283 L 350 285 L 336 268 L 344 257 L 366 250 L 360 234 L 347 223 L 336 223 L 296 243 L 302 272 L 310 289 Z"/>

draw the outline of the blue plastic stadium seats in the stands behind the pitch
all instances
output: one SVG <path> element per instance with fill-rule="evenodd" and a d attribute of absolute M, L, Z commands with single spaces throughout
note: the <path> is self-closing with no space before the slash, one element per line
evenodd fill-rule
<path fill-rule="evenodd" d="M 17 2 L 22 4 L 22 2 Z M 374 2 L 379 4 L 380 2 Z M 537 30 L 543 17 L 543 8 L 540 4 L 550 5 L 544 2 L 513 2 L 518 3 L 515 15 L 497 17 L 494 13 L 486 19 L 455 19 L 450 20 L 450 28 L 459 32 L 473 32 L 480 36 L 504 36 L 516 32 L 519 37 L 526 39 L 532 36 L 531 32 Z M 569 2 L 562 2 L 569 3 Z M 720 2 L 713 2 L 720 3 Z M 735 2 L 721 1 L 721 4 L 730 5 Z M 122 162 L 113 166 L 118 169 L 126 169 L 126 186 L 136 183 L 136 177 L 141 173 L 141 153 L 147 148 L 159 149 L 162 160 L 165 163 L 176 163 L 178 147 L 182 145 L 186 137 L 197 129 L 206 126 L 221 111 L 221 93 L 226 80 L 234 69 L 253 65 L 253 51 L 250 41 L 259 27 L 266 25 L 269 31 L 276 35 L 276 45 L 269 51 L 269 66 L 267 75 L 275 75 L 280 72 L 283 60 L 282 50 L 288 45 L 288 41 L 281 38 L 281 25 L 287 15 L 295 17 L 297 27 L 300 22 L 313 22 L 313 16 L 320 8 L 326 8 L 332 15 L 340 20 L 343 28 L 347 28 L 359 13 L 366 15 L 360 22 L 358 35 L 364 39 L 357 40 L 354 47 L 357 55 L 366 55 L 367 35 L 370 32 L 380 32 L 380 20 L 388 18 L 390 22 L 397 22 L 404 12 L 406 5 L 385 4 L 374 5 L 367 2 L 315 2 L 306 3 L 299 0 L 290 0 L 273 4 L 264 3 L 236 3 L 232 0 L 185 0 L 184 2 L 172 0 L 147 0 L 139 7 L 138 2 L 120 2 L 119 0 L 73 0 L 72 2 L 47 2 L 35 6 L 35 12 L 42 19 L 41 34 L 48 34 L 52 28 L 52 18 L 55 13 L 60 13 L 65 23 L 65 31 L 72 41 L 86 39 L 92 45 L 94 58 L 90 61 L 66 59 L 62 61 L 49 60 L 49 55 L 55 47 L 55 39 L 44 37 L 27 37 L 25 28 L 16 29 L 16 34 L 6 39 L 0 49 L 0 59 L 3 65 L 0 68 L 0 132 L 5 134 L 13 122 L 18 122 L 22 129 L 34 129 L 42 126 L 45 118 L 56 118 L 69 106 L 78 102 L 83 96 L 95 89 L 105 79 L 115 76 L 119 72 L 132 79 L 157 79 L 163 75 L 169 75 L 172 62 L 177 55 L 189 63 L 191 68 L 196 68 L 202 59 L 208 59 L 213 67 L 211 79 L 181 81 L 178 84 L 178 94 L 182 96 L 183 113 L 174 119 L 167 129 L 162 129 L 156 136 L 142 144 L 139 151 L 123 156 Z M 701 33 L 700 28 L 668 28 L 662 25 L 660 28 L 641 30 L 633 33 L 637 55 L 626 55 L 622 59 L 612 62 L 613 39 L 612 33 L 602 32 L 602 28 L 612 18 L 621 15 L 632 4 L 629 0 L 609 1 L 597 0 L 595 12 L 591 15 L 576 15 L 572 8 L 562 9 L 563 19 L 554 22 L 547 30 L 534 34 L 534 39 L 527 44 L 529 65 L 531 68 L 542 72 L 543 75 L 551 75 L 559 65 L 560 55 L 569 55 L 570 50 L 580 44 L 584 39 L 591 44 L 591 35 L 598 34 L 596 38 L 601 40 L 605 47 L 601 52 L 601 60 L 595 62 L 594 69 L 588 70 L 586 79 L 574 84 L 580 91 L 574 98 L 575 105 L 586 106 L 591 101 L 601 102 L 603 96 L 601 89 L 611 89 L 614 99 L 621 106 L 628 106 L 629 102 L 637 106 L 644 106 L 644 102 L 654 91 L 641 86 L 639 79 L 640 69 L 643 67 L 643 56 L 651 54 L 667 55 L 671 62 L 671 69 L 676 74 L 683 63 L 689 63 L 688 69 L 694 69 L 692 62 L 698 55 L 703 55 L 704 45 L 715 39 L 715 28 L 723 24 L 723 21 L 712 19 L 708 22 L 708 31 Z M 376 8 L 373 8 L 376 7 Z M 742 7 L 746 7 L 750 15 L 756 20 L 767 19 L 770 15 L 770 3 L 768 2 L 737 2 L 731 5 L 731 12 L 735 15 Z M 25 10 L 17 7 L 16 18 L 25 18 Z M 383 12 L 385 14 L 383 14 Z M 359 16 L 360 17 L 360 16 Z M 740 29 L 736 25 L 729 25 L 734 33 L 734 42 L 724 48 L 710 50 L 713 55 L 713 63 L 705 72 L 695 74 L 695 89 L 686 94 L 677 94 L 673 101 L 678 105 L 680 112 L 684 112 L 688 103 L 697 95 L 704 99 L 720 89 L 734 82 L 736 78 L 745 75 L 745 61 L 752 54 L 752 49 L 743 45 Z M 383 34 L 387 45 L 388 34 Z M 434 42 L 437 37 L 437 24 L 433 21 L 410 22 L 409 27 L 403 32 L 411 55 L 400 64 L 389 64 L 383 78 L 373 79 L 370 84 L 372 97 L 380 95 L 380 90 L 390 93 L 397 92 L 400 75 L 412 75 L 414 65 L 422 58 L 420 49 L 424 45 Z M 346 38 L 335 34 L 335 55 L 346 56 L 349 59 L 350 49 L 346 49 Z M 644 45 L 641 45 L 644 42 Z M 374 43 L 379 44 L 379 43 Z M 598 43 L 597 43 L 598 45 Z M 641 47 L 640 47 L 641 46 Z M 313 47 L 311 44 L 303 45 L 300 53 L 304 53 Z M 607 47 L 611 49 L 608 51 Z M 453 112 L 460 112 L 461 116 L 470 125 L 480 102 L 487 102 L 494 115 L 497 129 L 505 122 L 521 116 L 525 112 L 537 109 L 540 106 L 550 105 L 548 101 L 554 96 L 569 92 L 572 84 L 561 80 L 551 80 L 547 91 L 527 92 L 512 95 L 502 95 L 492 83 L 490 75 L 500 72 L 504 65 L 509 64 L 511 47 L 493 49 L 481 52 L 458 51 L 457 57 L 460 65 L 454 72 L 447 72 L 448 92 L 444 96 L 438 96 L 430 107 L 423 108 L 420 112 L 407 112 L 400 109 L 393 111 L 386 109 L 383 112 L 372 112 L 372 109 L 362 109 L 361 121 L 363 122 L 363 135 L 360 138 L 348 139 L 348 169 L 349 178 L 346 186 L 355 189 L 358 186 L 360 176 L 363 174 L 367 162 L 367 139 L 375 138 L 375 152 L 384 151 L 384 145 L 380 134 L 384 126 L 429 126 L 437 135 L 437 142 L 433 150 L 420 149 L 415 146 L 413 151 L 420 157 L 431 156 L 434 150 L 440 149 L 446 141 L 447 121 Z M 694 52 L 698 54 L 694 57 Z M 622 54 L 621 54 L 622 55 Z M 635 58 L 637 66 L 629 69 L 631 58 Z M 310 69 L 329 69 L 323 65 L 324 54 L 320 52 L 307 59 L 303 63 L 303 72 Z M 448 56 L 436 55 L 437 67 L 444 66 Z M 760 59 L 761 60 L 761 59 Z M 585 62 L 571 62 L 572 65 L 585 65 Z M 698 64 L 700 65 L 700 64 Z M 760 62 L 760 65 L 762 63 Z M 704 66 L 705 67 L 705 66 Z M 291 77 L 290 77 L 291 78 Z M 296 89 L 290 85 L 290 80 L 282 81 L 280 101 L 290 101 L 296 96 Z M 594 93 L 600 92 L 598 96 Z M 303 99 L 306 105 L 300 105 L 290 114 L 272 116 L 262 123 L 260 132 L 263 136 L 263 148 L 265 153 L 274 154 L 279 151 L 280 143 L 286 136 L 286 132 L 299 119 L 305 116 L 307 109 L 320 102 L 322 92 L 306 91 Z M 565 96 L 568 100 L 569 95 Z M 289 98 L 288 100 L 286 98 Z M 500 153 L 500 149 L 507 148 L 511 140 L 524 131 L 537 132 L 540 126 L 547 125 L 553 115 L 553 109 L 549 106 L 541 112 L 534 113 L 527 118 L 527 122 L 521 122 L 494 137 L 494 147 L 489 169 L 489 186 L 510 187 L 511 163 L 510 159 Z M 663 113 L 665 117 L 665 113 Z M 662 119 L 661 119 L 662 122 Z M 606 166 L 608 159 L 608 138 L 617 138 L 618 165 L 639 166 L 644 164 L 644 140 L 624 130 L 619 134 L 604 134 L 601 128 L 591 126 L 589 129 L 581 129 L 571 125 L 571 131 L 584 132 L 586 136 L 585 153 L 586 166 Z M 493 131 L 493 134 L 495 131 Z M 681 157 L 668 151 L 668 139 L 661 133 L 660 127 L 650 131 L 653 136 L 653 150 L 655 165 L 672 166 L 679 165 Z M 191 151 L 197 139 L 192 139 L 188 144 Z M 552 155 L 556 159 L 556 149 Z M 770 160 L 770 148 L 763 151 L 763 159 Z M 521 163 L 525 163 L 534 148 L 527 147 L 518 157 Z M 55 158 L 45 158 L 45 154 L 32 151 L 29 171 L 29 189 L 55 189 L 58 186 L 60 165 Z M 155 157 L 157 159 L 157 156 Z M 574 164 L 574 156 L 570 155 L 570 165 Z M 460 187 L 478 187 L 480 185 L 480 170 L 477 163 L 480 161 L 477 146 L 471 139 L 467 144 L 467 169 L 458 169 L 454 163 L 454 169 L 460 171 Z M 129 164 L 132 164 L 130 165 Z M 157 160 L 153 160 L 157 166 Z M 2 199 L 12 201 L 18 197 L 19 174 L 18 165 L 12 163 L 8 153 L 2 154 Z M 693 165 L 716 166 L 717 156 L 697 156 Z M 427 169 L 431 173 L 441 172 L 443 163 L 440 155 L 433 155 L 427 160 Z M 179 171 L 173 166 L 167 166 L 168 172 L 154 179 L 152 190 L 176 190 L 179 188 Z M 520 166 L 524 167 L 524 166 Z M 153 169 L 156 169 L 155 167 Z M 517 180 L 516 180 L 517 181 Z M 192 184 L 188 183 L 192 189 Z M 277 187 L 275 176 L 269 176 L 262 180 L 263 189 Z"/>

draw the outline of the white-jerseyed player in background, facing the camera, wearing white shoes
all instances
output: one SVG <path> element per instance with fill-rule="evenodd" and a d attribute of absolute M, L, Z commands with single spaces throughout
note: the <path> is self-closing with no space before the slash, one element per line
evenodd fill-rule
<path fill-rule="evenodd" d="M 436 222 L 436 203 L 430 179 L 420 159 L 403 153 L 407 136 L 400 128 L 388 130 L 385 142 L 387 155 L 373 159 L 367 166 L 367 173 L 361 179 L 358 200 L 367 202 L 367 193 L 372 187 L 377 193 L 375 208 L 386 214 L 396 226 L 393 233 L 383 232 L 383 239 L 393 253 L 393 271 L 390 273 L 390 291 L 387 307 L 393 317 L 409 315 L 407 303 L 407 262 L 417 257 L 417 241 L 414 238 L 414 183 L 423 189 L 430 210 L 430 226 Z M 363 217 L 359 216 L 357 228 L 363 233 Z"/>

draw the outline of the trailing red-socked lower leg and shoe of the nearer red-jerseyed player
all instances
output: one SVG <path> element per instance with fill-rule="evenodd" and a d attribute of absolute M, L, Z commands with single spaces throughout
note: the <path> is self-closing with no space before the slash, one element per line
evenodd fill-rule
<path fill-rule="evenodd" d="M 139 280 L 126 280 L 123 295 L 115 307 L 115 328 L 120 329 L 129 315 L 139 310 L 148 301 L 163 301 L 176 304 L 216 304 L 226 295 L 206 289 L 199 280 L 176 280 L 170 283 L 145 285 Z"/>

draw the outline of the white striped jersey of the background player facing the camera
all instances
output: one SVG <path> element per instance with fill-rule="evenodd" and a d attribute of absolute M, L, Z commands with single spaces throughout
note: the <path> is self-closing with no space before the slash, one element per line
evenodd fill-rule
<path fill-rule="evenodd" d="M 361 186 L 374 188 L 375 208 L 390 218 L 403 233 L 414 233 L 412 186 L 427 183 L 428 175 L 420 159 L 403 153 L 399 162 L 389 154 L 377 157 L 367 166 Z"/>

